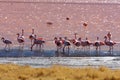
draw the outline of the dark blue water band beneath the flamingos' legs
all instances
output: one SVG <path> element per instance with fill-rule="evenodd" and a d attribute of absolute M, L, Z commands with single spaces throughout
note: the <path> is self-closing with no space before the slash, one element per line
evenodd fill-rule
<path fill-rule="evenodd" d="M 113 53 L 107 51 L 100 51 L 99 53 L 91 50 L 91 51 L 74 51 L 71 50 L 68 52 L 58 52 L 55 50 L 19 50 L 12 49 L 8 50 L 0 50 L 0 57 L 105 57 L 105 56 L 120 56 L 120 51 L 114 51 Z M 117 60 L 117 59 L 116 59 Z M 118 59 L 119 60 L 119 59 Z"/>

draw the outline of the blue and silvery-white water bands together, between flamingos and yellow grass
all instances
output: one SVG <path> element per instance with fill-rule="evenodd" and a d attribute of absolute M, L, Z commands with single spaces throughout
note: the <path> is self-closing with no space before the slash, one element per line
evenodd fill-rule
<path fill-rule="evenodd" d="M 56 50 L 0 50 L 0 63 L 14 63 L 19 65 L 30 65 L 32 67 L 50 67 L 52 65 L 63 65 L 70 67 L 99 67 L 106 66 L 112 69 L 120 69 L 120 52 L 114 51 L 110 54 L 101 51 L 99 55 L 95 50 L 80 51 L 71 50 L 70 53 L 57 53 Z"/>

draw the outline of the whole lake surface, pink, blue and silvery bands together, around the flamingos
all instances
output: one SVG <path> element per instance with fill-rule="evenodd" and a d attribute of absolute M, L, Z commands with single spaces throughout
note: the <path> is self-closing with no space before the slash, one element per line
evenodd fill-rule
<path fill-rule="evenodd" d="M 55 36 L 68 36 L 71 39 L 74 38 L 75 32 L 78 33 L 77 37 L 83 39 L 88 37 L 92 42 L 96 40 L 97 36 L 103 41 L 103 37 L 108 31 L 113 34 L 112 40 L 120 42 L 120 37 L 118 37 L 120 34 L 119 4 L 0 2 L 0 13 L 0 37 L 5 37 L 13 42 L 11 51 L 5 51 L 4 44 L 2 41 L 0 42 L 0 63 L 15 63 L 33 67 L 49 67 L 54 64 L 72 67 L 103 65 L 120 69 L 119 44 L 115 45 L 113 54 L 108 52 L 108 47 L 103 46 L 99 55 L 96 54 L 94 47 L 91 47 L 91 51 L 86 50 L 85 52 L 71 47 L 70 54 L 63 55 L 56 53 L 53 43 Z M 70 20 L 66 20 L 67 17 Z M 47 22 L 52 22 L 53 25 L 48 25 Z M 86 29 L 82 25 L 84 22 L 88 23 Z M 35 29 L 38 37 L 43 37 L 46 41 L 42 52 L 36 50 L 31 52 L 29 49 L 28 36 L 31 34 L 32 28 Z M 21 33 L 21 29 L 25 30 L 24 50 L 18 49 L 16 40 L 16 33 Z"/>

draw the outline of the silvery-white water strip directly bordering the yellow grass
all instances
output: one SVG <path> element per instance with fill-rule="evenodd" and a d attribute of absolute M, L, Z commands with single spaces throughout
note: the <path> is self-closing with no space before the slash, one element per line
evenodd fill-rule
<path fill-rule="evenodd" d="M 112 69 L 120 69 L 120 57 L 20 57 L 0 58 L 0 63 L 14 63 L 32 67 L 63 65 L 69 67 L 106 66 Z"/>

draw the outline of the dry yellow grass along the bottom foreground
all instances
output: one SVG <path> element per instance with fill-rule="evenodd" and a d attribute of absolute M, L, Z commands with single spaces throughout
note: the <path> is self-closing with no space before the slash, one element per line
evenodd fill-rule
<path fill-rule="evenodd" d="M 120 70 L 71 68 L 54 65 L 32 68 L 15 64 L 0 64 L 0 80 L 120 80 Z"/>

